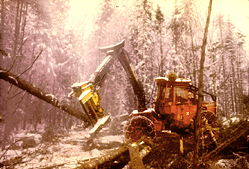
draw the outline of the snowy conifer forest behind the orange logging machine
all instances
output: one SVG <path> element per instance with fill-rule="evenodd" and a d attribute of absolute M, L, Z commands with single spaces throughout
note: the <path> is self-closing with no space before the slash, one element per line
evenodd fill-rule
<path fill-rule="evenodd" d="M 156 95 L 154 78 L 169 71 L 198 86 L 208 1 L 79 2 L 1 0 L 0 67 L 78 106 L 77 100 L 67 97 L 71 85 L 87 81 L 104 60 L 106 55 L 99 47 L 125 39 L 148 107 L 153 107 Z M 245 5 L 248 9 L 249 2 Z M 213 6 L 215 9 L 215 2 Z M 248 17 L 247 13 L 245 25 L 249 25 Z M 245 29 L 231 18 L 222 12 L 212 13 L 205 59 L 204 90 L 217 96 L 220 120 L 246 118 L 249 110 L 248 32 L 242 32 Z M 241 18 L 244 16 L 238 20 Z M 117 117 L 115 120 L 136 109 L 127 78 L 116 62 L 100 89 L 101 104 Z M 1 148 L 13 142 L 13 132 L 70 129 L 82 123 L 3 80 L 0 110 Z M 122 132 L 120 126 L 115 130 Z"/>

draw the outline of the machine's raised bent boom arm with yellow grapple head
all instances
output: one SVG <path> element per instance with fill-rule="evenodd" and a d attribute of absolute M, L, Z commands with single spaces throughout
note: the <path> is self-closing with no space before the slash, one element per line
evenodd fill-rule
<path fill-rule="evenodd" d="M 101 52 L 106 52 L 107 57 L 98 66 L 88 81 L 72 85 L 73 91 L 69 95 L 75 95 L 80 101 L 82 108 L 89 119 L 89 124 L 93 126 L 90 133 L 99 131 L 110 119 L 110 115 L 106 113 L 100 105 L 98 90 L 102 86 L 107 74 L 110 72 L 110 67 L 116 59 L 120 61 L 129 77 L 133 91 L 138 98 L 138 110 L 143 111 L 146 109 L 143 86 L 132 69 L 128 53 L 123 49 L 124 44 L 125 41 L 123 40 L 116 45 L 100 48 L 99 50 Z"/>

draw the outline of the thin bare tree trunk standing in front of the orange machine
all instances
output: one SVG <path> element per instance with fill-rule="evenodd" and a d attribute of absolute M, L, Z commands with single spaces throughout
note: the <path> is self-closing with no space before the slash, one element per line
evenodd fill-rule
<path fill-rule="evenodd" d="M 210 16 L 211 16 L 211 10 L 212 10 L 212 0 L 209 1 L 209 7 L 208 7 L 208 16 L 206 20 L 206 26 L 204 30 L 204 37 L 202 41 L 202 47 L 201 47 L 201 60 L 200 60 L 200 74 L 199 74 L 199 82 L 198 82 L 198 107 L 197 107 L 197 113 L 195 118 L 195 141 L 196 141 L 196 150 L 195 150 L 195 156 L 194 156 L 194 164 L 193 167 L 197 168 L 197 162 L 198 162 L 198 154 L 199 154 L 199 123 L 200 123 L 200 117 L 201 117 L 201 106 L 202 106 L 202 100 L 203 100 L 203 70 L 204 70 L 204 62 L 205 62 L 205 50 L 206 50 L 206 44 L 207 44 L 207 34 L 208 34 L 208 27 L 210 22 Z"/>

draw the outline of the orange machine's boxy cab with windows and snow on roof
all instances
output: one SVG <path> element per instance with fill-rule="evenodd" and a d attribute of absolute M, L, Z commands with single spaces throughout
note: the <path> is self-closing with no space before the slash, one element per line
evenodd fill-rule
<path fill-rule="evenodd" d="M 192 128 L 197 110 L 196 93 L 189 91 L 191 81 L 188 79 L 169 80 L 166 77 L 155 79 L 157 98 L 155 111 L 165 120 L 165 128 Z"/>

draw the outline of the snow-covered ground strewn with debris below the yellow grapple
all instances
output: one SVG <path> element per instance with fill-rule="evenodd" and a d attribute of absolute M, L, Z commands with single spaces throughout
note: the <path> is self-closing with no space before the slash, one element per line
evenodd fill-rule
<path fill-rule="evenodd" d="M 101 134 L 103 135 L 103 134 Z M 75 168 L 79 161 L 94 158 L 105 154 L 106 151 L 114 149 L 118 145 L 122 145 L 123 136 L 122 135 L 111 135 L 102 136 L 93 139 L 91 143 L 94 146 L 88 146 L 87 140 L 89 138 L 88 134 L 84 130 L 76 131 L 72 129 L 69 132 L 60 134 L 56 136 L 50 142 L 42 142 L 41 134 L 32 133 L 18 133 L 15 136 L 15 140 L 20 140 L 22 138 L 33 138 L 37 145 L 33 148 L 24 149 L 21 145 L 22 141 L 16 143 L 17 147 L 10 148 L 0 159 L 0 162 L 10 160 L 20 160 L 21 162 L 17 164 L 16 168 L 44 168 L 60 166 L 59 168 Z M 115 143 L 115 144 L 113 144 Z M 110 146 L 106 146 L 110 144 Z M 102 146 L 101 145 L 105 145 Z M 14 147 L 14 146 L 13 146 Z M 103 148 L 104 147 L 104 148 Z M 107 149 L 109 148 L 109 149 Z M 3 155 L 1 152 L 0 157 Z M 14 159 L 15 158 L 15 159 Z"/>

